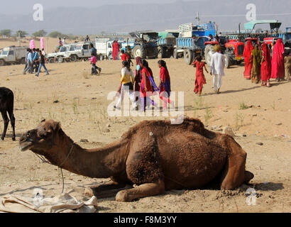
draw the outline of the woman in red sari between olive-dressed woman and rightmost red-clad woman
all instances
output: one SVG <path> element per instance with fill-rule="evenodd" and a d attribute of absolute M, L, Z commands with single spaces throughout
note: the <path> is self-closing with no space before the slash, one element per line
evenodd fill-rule
<path fill-rule="evenodd" d="M 262 61 L 260 63 L 260 79 L 262 80 L 262 86 L 267 85 L 267 87 L 270 87 L 270 77 L 271 77 L 271 55 L 270 55 L 270 49 L 268 48 L 268 45 L 266 43 L 263 43 L 263 45 L 260 47 L 262 50 Z"/>

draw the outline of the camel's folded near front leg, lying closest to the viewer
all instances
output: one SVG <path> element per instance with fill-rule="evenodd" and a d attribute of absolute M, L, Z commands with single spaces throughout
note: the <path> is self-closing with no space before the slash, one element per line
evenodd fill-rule
<path fill-rule="evenodd" d="M 163 192 L 165 192 L 165 183 L 159 179 L 155 183 L 141 184 L 136 188 L 120 191 L 116 194 L 116 201 L 133 201 L 134 199 L 154 196 Z"/>

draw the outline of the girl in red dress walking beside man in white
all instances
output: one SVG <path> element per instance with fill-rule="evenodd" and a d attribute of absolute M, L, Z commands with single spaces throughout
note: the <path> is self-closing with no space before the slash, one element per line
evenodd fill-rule
<path fill-rule="evenodd" d="M 198 93 L 199 96 L 201 96 L 203 84 L 206 84 L 206 79 L 203 73 L 203 67 L 205 71 L 208 73 L 207 68 L 205 66 L 205 62 L 201 62 L 201 61 L 202 61 L 202 57 L 198 55 L 197 57 L 195 57 L 194 62 L 192 63 L 193 67 L 196 65 L 196 80 L 195 80 L 194 92 L 195 94 Z"/>

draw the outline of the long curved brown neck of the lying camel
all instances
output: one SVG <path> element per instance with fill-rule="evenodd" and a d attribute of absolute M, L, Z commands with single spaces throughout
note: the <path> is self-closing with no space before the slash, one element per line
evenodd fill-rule
<path fill-rule="evenodd" d="M 125 141 L 111 143 L 104 148 L 87 150 L 75 144 L 60 130 L 59 140 L 56 143 L 50 155 L 45 155 L 45 157 L 53 165 L 77 175 L 107 178 L 119 175 L 125 170 L 127 150 Z"/>

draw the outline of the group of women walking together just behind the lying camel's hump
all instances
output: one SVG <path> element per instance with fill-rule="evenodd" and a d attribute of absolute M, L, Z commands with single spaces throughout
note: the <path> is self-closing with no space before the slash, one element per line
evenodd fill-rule
<path fill-rule="evenodd" d="M 131 63 L 128 58 L 126 59 L 122 61 L 119 99 L 114 108 L 121 109 L 121 103 L 126 93 L 131 99 L 133 109 L 138 109 L 138 106 L 141 106 L 141 111 L 146 111 L 146 107 L 150 105 L 157 108 L 158 104 L 150 98 L 155 94 L 159 94 L 160 99 L 162 99 L 163 110 L 168 110 L 168 104 L 171 105 L 171 108 L 174 108 L 174 102 L 170 100 L 170 74 L 166 62 L 164 60 L 158 61 L 158 67 L 160 68 L 160 84 L 158 87 L 153 78 L 153 71 L 146 60 L 136 57 L 136 74 L 134 75 L 133 70 L 131 70 Z"/>

